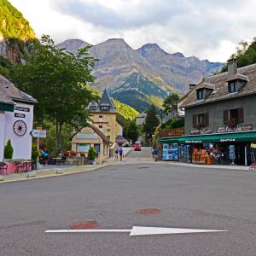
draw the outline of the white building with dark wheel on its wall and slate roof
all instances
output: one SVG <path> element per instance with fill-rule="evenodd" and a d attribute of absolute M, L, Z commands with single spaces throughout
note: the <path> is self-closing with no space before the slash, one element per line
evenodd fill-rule
<path fill-rule="evenodd" d="M 37 101 L 18 90 L 0 75 L 0 160 L 11 141 L 13 159 L 30 160 L 32 153 L 33 108 Z"/>

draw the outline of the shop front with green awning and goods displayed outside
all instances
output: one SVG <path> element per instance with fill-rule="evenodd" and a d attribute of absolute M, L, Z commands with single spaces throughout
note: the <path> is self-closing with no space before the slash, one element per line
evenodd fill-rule
<path fill-rule="evenodd" d="M 256 131 L 170 137 L 160 142 L 177 143 L 181 162 L 249 166 L 256 160 Z"/>

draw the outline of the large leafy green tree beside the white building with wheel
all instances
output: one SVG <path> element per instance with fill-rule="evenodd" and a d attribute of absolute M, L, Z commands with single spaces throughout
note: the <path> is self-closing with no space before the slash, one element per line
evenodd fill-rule
<path fill-rule="evenodd" d="M 93 82 L 91 67 L 95 59 L 88 47 L 77 54 L 55 48 L 49 36 L 29 45 L 25 65 L 15 68 L 15 84 L 38 100 L 35 117 L 39 122 L 49 119 L 55 125 L 56 152 L 61 150 L 61 131 L 69 125 L 74 131 L 87 125 L 90 119 L 85 109 L 94 99 L 86 83 Z"/>

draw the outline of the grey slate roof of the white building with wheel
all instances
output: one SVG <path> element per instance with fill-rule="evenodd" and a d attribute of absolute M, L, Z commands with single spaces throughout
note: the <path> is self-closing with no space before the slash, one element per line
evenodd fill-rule
<path fill-rule="evenodd" d="M 15 102 L 37 103 L 37 100 L 19 90 L 0 74 L 0 102 L 14 105 Z"/>

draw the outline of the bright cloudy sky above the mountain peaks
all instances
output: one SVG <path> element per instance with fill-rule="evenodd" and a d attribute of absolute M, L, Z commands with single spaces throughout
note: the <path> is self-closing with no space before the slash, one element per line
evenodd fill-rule
<path fill-rule="evenodd" d="M 201 60 L 227 61 L 255 36 L 255 0 L 9 0 L 38 38 L 99 44 L 124 38 L 133 49 L 159 44 Z"/>

